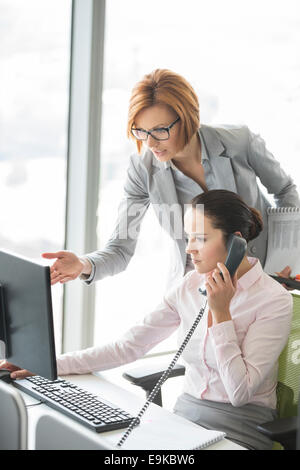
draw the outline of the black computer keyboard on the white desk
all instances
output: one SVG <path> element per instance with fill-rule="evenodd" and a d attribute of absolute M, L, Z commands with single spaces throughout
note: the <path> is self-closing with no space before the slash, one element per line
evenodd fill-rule
<path fill-rule="evenodd" d="M 51 408 L 96 432 L 123 429 L 134 419 L 126 411 L 66 380 L 40 376 L 16 380 L 14 385 Z"/>

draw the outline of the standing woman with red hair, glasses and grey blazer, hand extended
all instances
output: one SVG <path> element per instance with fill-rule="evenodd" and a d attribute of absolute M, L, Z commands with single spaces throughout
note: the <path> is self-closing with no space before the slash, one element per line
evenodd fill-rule
<path fill-rule="evenodd" d="M 146 75 L 133 88 L 127 134 L 136 141 L 138 153 L 129 161 L 115 230 L 101 251 L 82 257 L 67 251 L 44 253 L 45 258 L 56 259 L 51 267 L 52 284 L 78 276 L 89 284 L 124 271 L 150 204 L 174 244 L 169 282 L 184 276 L 193 269 L 186 253 L 184 207 L 195 195 L 211 189 L 233 191 L 260 211 L 264 230 L 249 243 L 248 253 L 264 266 L 270 202 L 257 178 L 274 195 L 277 207 L 299 207 L 300 200 L 292 178 L 260 136 L 246 126 L 200 125 L 193 88 L 180 75 L 164 69 Z M 282 275 L 289 275 L 288 267 Z"/>

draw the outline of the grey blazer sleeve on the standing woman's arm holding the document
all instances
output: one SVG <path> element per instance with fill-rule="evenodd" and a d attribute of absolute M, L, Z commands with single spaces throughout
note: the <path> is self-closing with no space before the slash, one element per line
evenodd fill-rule
<path fill-rule="evenodd" d="M 277 207 L 300 207 L 299 194 L 292 178 L 266 148 L 264 140 L 249 130 L 248 161 Z"/>

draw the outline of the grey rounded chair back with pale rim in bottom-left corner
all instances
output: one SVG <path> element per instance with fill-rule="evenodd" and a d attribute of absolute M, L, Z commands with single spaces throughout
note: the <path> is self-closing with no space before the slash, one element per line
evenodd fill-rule
<path fill-rule="evenodd" d="M 27 411 L 21 394 L 0 380 L 0 450 L 27 449 Z"/>

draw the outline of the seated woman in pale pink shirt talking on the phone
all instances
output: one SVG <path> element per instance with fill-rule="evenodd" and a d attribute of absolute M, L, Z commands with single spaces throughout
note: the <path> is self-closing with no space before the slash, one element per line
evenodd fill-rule
<path fill-rule="evenodd" d="M 258 259 L 245 255 L 233 279 L 224 265 L 230 234 L 248 242 L 261 230 L 259 212 L 237 194 L 212 190 L 195 197 L 185 215 L 195 270 L 119 340 L 59 356 L 59 375 L 135 361 L 176 329 L 181 344 L 205 302 L 199 292 L 205 283 L 208 308 L 182 354 L 186 374 L 174 412 L 225 431 L 247 448 L 271 449 L 256 425 L 276 416 L 277 360 L 290 331 L 292 296 L 263 272 Z"/>

